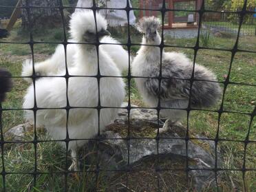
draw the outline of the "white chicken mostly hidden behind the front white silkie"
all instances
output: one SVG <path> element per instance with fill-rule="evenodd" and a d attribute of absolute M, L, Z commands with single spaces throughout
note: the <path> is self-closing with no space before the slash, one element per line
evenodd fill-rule
<path fill-rule="evenodd" d="M 67 69 L 76 65 L 74 62 L 74 55 L 77 52 L 78 46 L 76 44 L 75 39 L 68 40 L 71 44 L 67 45 Z M 120 70 L 120 72 L 124 72 L 128 70 L 129 67 L 129 54 L 116 39 L 113 39 L 111 36 L 103 36 L 100 39 L 100 43 L 110 43 L 100 45 L 102 50 L 106 52 L 116 63 L 116 66 Z M 131 59 L 131 58 L 130 58 Z M 131 60 L 130 60 L 131 61 Z M 47 58 L 45 61 L 34 63 L 34 71 L 36 76 L 55 76 L 65 75 L 65 50 L 63 45 L 58 45 L 54 54 L 50 58 Z M 32 60 L 26 59 L 23 61 L 23 68 L 21 72 L 21 76 L 32 76 L 33 68 L 32 68 Z M 70 74 L 70 72 L 69 72 Z M 71 74 L 75 75 L 75 74 Z M 28 83 L 32 82 L 32 78 L 25 78 Z"/>

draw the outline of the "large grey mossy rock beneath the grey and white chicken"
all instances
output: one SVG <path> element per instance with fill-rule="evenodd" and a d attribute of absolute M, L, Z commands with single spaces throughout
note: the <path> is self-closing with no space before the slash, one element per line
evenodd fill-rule
<path fill-rule="evenodd" d="M 125 125 L 127 124 L 127 119 L 127 110 L 120 109 L 118 118 L 111 127 Z M 131 127 L 136 127 L 136 129 L 140 130 L 141 127 L 148 125 L 153 127 L 152 130 L 157 129 L 156 110 L 131 109 Z M 169 131 L 160 134 L 159 141 L 156 138 L 135 138 L 133 136 L 126 138 L 126 136 L 122 137 L 119 133 L 114 133 L 111 129 L 107 129 L 101 135 L 98 146 L 99 159 L 102 160 L 100 167 L 103 167 L 103 169 L 105 167 L 108 170 L 109 167 L 113 168 L 113 170 L 125 169 L 128 162 L 132 166 L 136 162 L 142 161 L 145 157 L 156 156 L 157 154 L 165 154 L 166 156 L 171 154 L 171 156 L 182 156 L 183 158 L 187 156 L 189 160 L 194 162 L 189 164 L 191 169 L 213 169 L 215 167 L 215 143 L 213 141 L 204 140 L 202 137 L 196 136 L 209 149 L 204 149 L 200 146 L 200 143 L 197 144 L 193 140 L 188 141 L 186 149 L 186 141 L 184 140 L 186 129 L 180 126 L 169 128 Z M 95 142 L 89 142 L 89 145 L 95 145 Z M 87 146 L 86 149 L 93 149 L 93 147 Z M 110 159 L 111 161 L 109 161 Z M 109 177 L 114 174 L 113 172 L 109 172 Z M 189 177 L 194 181 L 193 189 L 200 191 L 204 187 L 214 184 L 215 173 L 213 171 L 191 170 L 189 171 Z"/>

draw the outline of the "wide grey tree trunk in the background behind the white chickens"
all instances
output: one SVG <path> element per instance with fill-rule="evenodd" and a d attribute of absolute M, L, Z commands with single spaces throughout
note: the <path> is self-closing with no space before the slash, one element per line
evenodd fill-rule
<path fill-rule="evenodd" d="M 60 0 L 21 0 L 21 6 L 38 7 L 29 8 L 29 10 L 23 8 L 21 10 L 23 28 L 30 28 L 30 23 L 31 27 L 34 29 L 53 28 L 61 25 L 61 12 L 58 9 L 60 6 L 59 1 Z M 28 17 L 28 12 L 30 13 L 30 18 Z"/>

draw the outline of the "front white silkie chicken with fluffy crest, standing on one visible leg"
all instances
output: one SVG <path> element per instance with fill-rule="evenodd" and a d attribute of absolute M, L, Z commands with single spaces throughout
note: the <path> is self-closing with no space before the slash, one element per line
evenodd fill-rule
<path fill-rule="evenodd" d="M 97 34 L 101 39 L 109 34 L 106 30 L 107 21 L 97 13 L 96 22 Z M 70 33 L 72 39 L 77 43 L 96 43 L 96 25 L 93 12 L 83 10 L 72 14 Z M 70 67 L 70 74 L 78 76 L 96 75 L 98 72 L 96 45 L 76 44 L 76 54 L 73 62 L 74 67 Z M 99 47 L 99 67 L 100 74 L 103 76 L 120 76 L 120 70 L 101 47 Z M 62 73 L 60 72 L 60 74 Z M 100 106 L 120 107 L 125 98 L 124 87 L 122 78 L 117 77 L 100 78 L 100 93 L 98 93 L 98 81 L 95 77 L 70 77 L 68 78 L 68 87 L 65 78 L 62 77 L 39 78 L 35 81 L 36 106 L 44 109 L 36 111 L 36 126 L 45 126 L 48 134 L 55 140 L 67 138 L 67 111 L 58 108 L 66 107 L 68 98 L 70 107 L 73 107 L 68 114 L 68 138 L 92 138 L 98 134 L 98 130 L 102 131 L 111 120 L 114 120 L 118 109 L 100 109 L 100 127 L 98 127 L 97 109 L 76 107 L 98 107 L 98 94 L 100 95 Z M 34 86 L 30 85 L 24 97 L 23 108 L 31 109 L 34 104 Z M 29 122 L 34 122 L 33 111 L 26 110 L 25 118 Z M 69 142 L 68 150 L 71 150 L 73 160 L 70 170 L 78 170 L 77 149 L 85 142 L 87 140 L 72 140 Z M 61 142 L 61 144 L 65 147 L 65 142 Z"/>

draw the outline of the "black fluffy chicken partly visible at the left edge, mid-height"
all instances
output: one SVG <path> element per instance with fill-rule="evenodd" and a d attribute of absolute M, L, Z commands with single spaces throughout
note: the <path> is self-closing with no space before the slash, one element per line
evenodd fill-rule
<path fill-rule="evenodd" d="M 6 92 L 12 89 L 12 75 L 7 70 L 0 69 L 0 103 L 3 102 L 6 97 Z"/>

